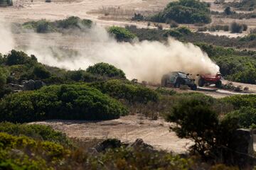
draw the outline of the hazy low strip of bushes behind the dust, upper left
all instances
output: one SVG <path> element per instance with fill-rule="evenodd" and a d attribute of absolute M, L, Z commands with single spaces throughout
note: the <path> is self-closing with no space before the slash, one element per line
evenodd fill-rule
<path fill-rule="evenodd" d="M 86 19 L 80 19 L 76 16 L 70 16 L 63 20 L 54 22 L 46 21 L 45 19 L 39 21 L 28 21 L 23 23 L 22 28 L 28 30 L 35 30 L 36 33 L 50 33 L 50 32 L 62 32 L 67 29 L 80 29 L 84 30 L 92 26 L 92 21 Z"/>

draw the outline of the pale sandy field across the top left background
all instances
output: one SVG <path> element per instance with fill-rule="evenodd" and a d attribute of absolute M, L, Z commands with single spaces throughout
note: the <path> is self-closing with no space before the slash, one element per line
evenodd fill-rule
<path fill-rule="evenodd" d="M 0 18 L 7 21 L 24 22 L 29 20 L 39 20 L 46 18 L 48 20 L 63 19 L 68 16 L 78 16 L 95 21 L 103 26 L 131 24 L 130 21 L 107 21 L 99 19 L 99 13 L 92 13 L 100 8 L 124 8 L 136 11 L 156 11 L 164 8 L 169 0 L 53 0 L 52 3 L 45 3 L 42 0 L 31 1 L 16 0 L 14 6 L 9 8 L 0 8 Z M 21 6 L 21 7 L 19 7 Z M 132 24 L 145 26 L 146 23 Z"/>

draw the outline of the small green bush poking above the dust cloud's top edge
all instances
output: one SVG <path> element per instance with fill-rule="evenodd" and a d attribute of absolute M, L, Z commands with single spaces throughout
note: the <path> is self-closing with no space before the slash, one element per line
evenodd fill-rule
<path fill-rule="evenodd" d="M 136 35 L 130 33 L 126 28 L 112 26 L 108 31 L 114 35 L 114 38 L 116 38 L 117 41 L 131 42 L 134 38 L 136 38 Z"/>

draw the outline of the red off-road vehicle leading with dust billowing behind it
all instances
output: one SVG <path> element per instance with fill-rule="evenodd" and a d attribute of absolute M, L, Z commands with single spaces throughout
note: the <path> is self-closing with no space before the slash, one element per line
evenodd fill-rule
<path fill-rule="evenodd" d="M 198 86 L 203 86 L 205 84 L 215 84 L 217 88 L 221 87 L 221 74 L 218 72 L 215 75 L 212 74 L 201 74 L 198 79 Z"/>

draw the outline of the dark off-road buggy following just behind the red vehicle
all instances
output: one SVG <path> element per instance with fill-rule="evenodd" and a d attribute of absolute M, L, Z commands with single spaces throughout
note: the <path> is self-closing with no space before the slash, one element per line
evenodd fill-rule
<path fill-rule="evenodd" d="M 170 72 L 169 74 L 164 74 L 161 79 L 161 86 L 179 88 L 181 85 L 186 85 L 191 90 L 197 89 L 195 79 L 191 79 L 189 74 L 183 72 Z"/>

